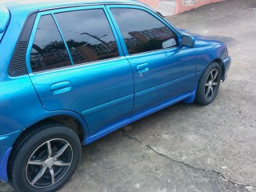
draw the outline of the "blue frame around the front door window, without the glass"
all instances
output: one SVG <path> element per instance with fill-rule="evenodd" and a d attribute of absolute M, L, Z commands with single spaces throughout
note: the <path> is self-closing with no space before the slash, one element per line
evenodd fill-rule
<path fill-rule="evenodd" d="M 122 38 L 122 32 L 119 29 L 118 22 L 116 22 L 116 20 L 114 19 L 114 15 L 111 12 L 111 9 L 113 9 L 113 8 L 135 9 L 135 10 L 143 10 L 143 11 L 147 12 L 148 14 L 152 15 L 154 18 L 158 19 L 159 22 L 162 22 L 162 24 L 164 24 L 166 27 L 168 27 L 176 35 L 177 46 L 171 46 L 171 47 L 167 47 L 167 48 L 163 48 L 163 49 L 159 49 L 159 50 L 150 50 L 150 51 L 145 51 L 145 52 L 141 52 L 141 53 L 137 53 L 137 54 L 129 54 L 128 49 L 126 47 L 126 42 Z M 125 56 L 148 54 L 148 53 L 152 53 L 155 51 L 162 51 L 162 50 L 172 50 L 172 49 L 175 50 L 175 48 L 181 46 L 180 38 L 182 37 L 182 34 L 180 34 L 178 29 L 176 29 L 176 27 L 171 25 L 170 22 L 167 22 L 166 19 L 163 19 L 157 13 L 154 13 L 154 11 L 152 11 L 152 10 L 149 10 L 143 6 L 134 6 L 134 5 L 108 5 L 108 6 L 106 6 L 106 10 L 108 11 L 108 14 L 110 14 L 111 21 L 114 23 L 114 28 L 118 32 L 118 38 L 120 39 L 120 42 L 122 44 L 122 49 L 124 51 Z"/>

